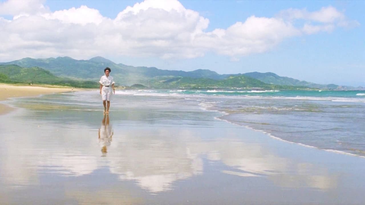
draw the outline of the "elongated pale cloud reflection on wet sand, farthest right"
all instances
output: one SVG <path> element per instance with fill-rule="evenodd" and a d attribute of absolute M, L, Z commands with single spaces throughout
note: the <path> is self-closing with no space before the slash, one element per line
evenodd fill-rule
<path fill-rule="evenodd" d="M 233 140 L 232 140 L 233 141 Z M 319 169 L 309 163 L 297 163 L 265 151 L 259 144 L 242 142 L 212 142 L 214 157 L 225 165 L 234 168 L 223 173 L 241 177 L 268 177 L 281 187 L 311 187 L 328 190 L 337 187 L 338 175 L 331 175 L 326 169 Z M 211 151 L 210 151 L 211 152 Z M 288 173 L 288 170 L 290 174 Z"/>

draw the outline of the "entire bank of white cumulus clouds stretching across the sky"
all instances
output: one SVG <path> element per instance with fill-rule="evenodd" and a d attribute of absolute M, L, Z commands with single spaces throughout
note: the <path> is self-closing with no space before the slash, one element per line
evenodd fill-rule
<path fill-rule="evenodd" d="M 298 25 L 298 20 L 304 23 Z M 86 5 L 50 12 L 42 1 L 9 0 L 0 3 L 0 61 L 96 55 L 184 59 L 207 52 L 237 61 L 273 49 L 293 36 L 358 25 L 332 6 L 312 12 L 288 9 L 275 17 L 250 16 L 208 32 L 209 23 L 177 0 L 145 0 L 128 6 L 115 19 Z"/>

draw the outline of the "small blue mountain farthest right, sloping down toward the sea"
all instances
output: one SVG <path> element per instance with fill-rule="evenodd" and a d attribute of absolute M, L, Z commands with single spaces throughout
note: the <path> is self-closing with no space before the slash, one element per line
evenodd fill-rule
<path fill-rule="evenodd" d="M 245 73 L 244 75 L 251 78 L 255 78 L 267 84 L 274 84 L 274 85 L 305 86 L 305 87 L 320 88 L 320 89 L 338 88 L 338 85 L 335 84 L 328 84 L 328 85 L 315 84 L 312 82 L 296 80 L 294 78 L 281 77 L 275 73 L 270 73 L 270 72 L 268 73 L 252 72 L 252 73 Z"/>

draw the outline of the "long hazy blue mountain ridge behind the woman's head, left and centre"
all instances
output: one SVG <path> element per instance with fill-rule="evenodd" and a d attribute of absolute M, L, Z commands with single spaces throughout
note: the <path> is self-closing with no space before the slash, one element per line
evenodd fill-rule
<path fill-rule="evenodd" d="M 228 75 L 220 75 L 211 70 L 177 71 L 161 70 L 156 67 L 134 67 L 116 64 L 103 57 L 94 57 L 90 60 L 76 60 L 70 57 L 33 59 L 23 58 L 17 61 L 4 62 L 0 65 L 18 65 L 21 67 L 41 67 L 58 77 L 74 79 L 99 80 L 104 74 L 104 68 L 110 67 L 111 75 L 120 85 L 146 84 L 150 78 L 165 78 L 166 76 L 180 76 L 191 78 L 223 79 Z M 160 79 L 159 79 L 160 80 Z"/>

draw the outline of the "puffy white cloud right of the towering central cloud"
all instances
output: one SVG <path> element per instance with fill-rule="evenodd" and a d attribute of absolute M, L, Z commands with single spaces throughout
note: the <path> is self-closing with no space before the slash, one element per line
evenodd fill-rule
<path fill-rule="evenodd" d="M 200 35 L 196 44 L 223 55 L 247 55 L 267 51 L 284 38 L 299 34 L 299 30 L 281 19 L 251 16 L 227 30 L 219 29 Z"/>

